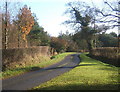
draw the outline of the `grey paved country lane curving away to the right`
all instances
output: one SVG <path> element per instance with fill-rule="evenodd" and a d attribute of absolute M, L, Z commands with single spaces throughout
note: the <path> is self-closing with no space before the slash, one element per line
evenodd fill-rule
<path fill-rule="evenodd" d="M 2 81 L 2 90 L 28 90 L 76 67 L 79 54 L 67 56 L 64 60 L 49 67 L 31 71 Z"/>

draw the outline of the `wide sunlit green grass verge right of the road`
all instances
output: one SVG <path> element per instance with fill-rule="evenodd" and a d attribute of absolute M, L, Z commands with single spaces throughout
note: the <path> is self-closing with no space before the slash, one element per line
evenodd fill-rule
<path fill-rule="evenodd" d="M 81 63 L 32 90 L 118 90 L 118 67 L 81 54 Z"/>

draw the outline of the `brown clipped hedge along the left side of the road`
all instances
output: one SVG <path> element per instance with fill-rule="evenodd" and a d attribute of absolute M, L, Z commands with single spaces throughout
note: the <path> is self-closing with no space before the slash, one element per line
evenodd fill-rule
<path fill-rule="evenodd" d="M 25 58 L 33 59 L 40 56 L 50 56 L 53 54 L 52 48 L 49 46 L 39 46 L 30 48 L 13 48 L 13 49 L 1 49 L 2 50 L 2 68 L 15 67 L 15 64 L 28 64 L 32 60 L 23 60 Z M 33 62 L 34 63 L 34 62 Z M 32 63 L 31 63 L 32 64 Z"/>

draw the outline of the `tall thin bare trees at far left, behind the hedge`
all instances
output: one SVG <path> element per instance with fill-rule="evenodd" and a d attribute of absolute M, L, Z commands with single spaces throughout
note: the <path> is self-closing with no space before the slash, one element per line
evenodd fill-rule
<path fill-rule="evenodd" d="M 19 2 L 2 2 L 1 14 L 2 14 L 2 47 L 7 49 L 14 46 L 13 36 L 11 35 L 15 26 L 13 26 L 13 20 L 16 20 L 16 15 L 20 8 Z M 14 27 L 14 28 L 13 28 Z M 15 30 L 17 33 L 17 30 Z M 16 34 L 17 35 L 17 34 Z"/>

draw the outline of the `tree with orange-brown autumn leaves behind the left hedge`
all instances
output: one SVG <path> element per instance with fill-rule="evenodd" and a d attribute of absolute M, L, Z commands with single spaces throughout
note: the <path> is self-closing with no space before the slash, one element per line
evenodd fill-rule
<path fill-rule="evenodd" d="M 32 16 L 30 8 L 28 9 L 27 5 L 20 9 L 18 22 L 22 33 L 22 38 L 25 41 L 27 47 L 26 36 L 30 33 L 32 26 L 34 25 L 34 18 Z"/>

